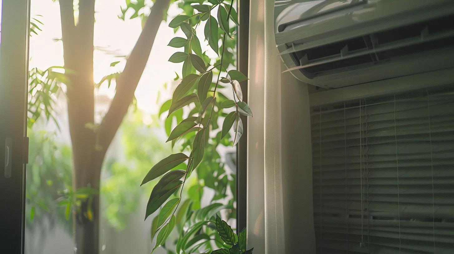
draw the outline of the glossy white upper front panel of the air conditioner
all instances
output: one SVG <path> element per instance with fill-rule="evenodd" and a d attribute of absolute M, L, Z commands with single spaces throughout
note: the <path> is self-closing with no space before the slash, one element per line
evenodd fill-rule
<path fill-rule="evenodd" d="M 286 9 L 301 10 L 296 8 L 296 6 L 311 6 L 309 3 L 315 2 L 317 5 L 306 10 L 307 12 L 312 12 L 312 9 L 316 8 L 318 10 L 321 6 L 344 1 L 291 0 L 286 2 L 288 2 L 287 5 L 278 5 L 278 1 L 275 4 L 275 6 L 278 5 L 275 7 L 277 45 L 302 38 L 304 42 L 314 41 L 326 38 L 326 34 L 331 37 L 335 31 L 346 33 L 343 37 L 347 39 L 349 32 L 357 34 L 357 32 L 351 31 L 353 28 L 361 29 L 363 27 L 366 29 L 366 33 L 380 31 L 389 27 L 448 15 L 453 12 L 452 8 L 449 7 L 454 6 L 452 0 L 348 0 L 346 3 L 350 3 L 349 8 L 334 9 L 330 12 L 322 12 L 320 15 L 305 16 L 301 14 L 302 18 L 300 19 L 296 15 L 286 15 L 289 14 Z M 449 5 L 447 6 L 446 4 Z"/>

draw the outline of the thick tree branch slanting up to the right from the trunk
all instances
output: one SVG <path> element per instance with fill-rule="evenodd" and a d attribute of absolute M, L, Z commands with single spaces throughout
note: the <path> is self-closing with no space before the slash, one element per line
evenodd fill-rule
<path fill-rule="evenodd" d="M 115 97 L 98 132 L 98 143 L 103 150 L 107 150 L 109 147 L 133 100 L 134 91 L 148 62 L 156 33 L 163 20 L 164 11 L 168 10 L 169 3 L 170 0 L 155 1 L 142 33 L 129 55 L 123 73 L 117 78 Z"/>

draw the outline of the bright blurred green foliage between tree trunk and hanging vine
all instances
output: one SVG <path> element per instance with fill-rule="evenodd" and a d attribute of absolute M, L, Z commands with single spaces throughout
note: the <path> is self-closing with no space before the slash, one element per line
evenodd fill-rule
<path fill-rule="evenodd" d="M 141 194 L 138 181 L 146 175 L 151 165 L 170 152 L 163 145 L 157 133 L 162 131 L 157 123 L 146 126 L 144 113 L 140 110 L 130 113 L 120 127 L 123 160 L 111 158 L 104 163 L 101 180 L 101 200 L 105 204 L 104 216 L 116 229 L 125 225 L 126 215 L 138 208 Z M 150 189 L 151 190 L 151 189 Z"/>

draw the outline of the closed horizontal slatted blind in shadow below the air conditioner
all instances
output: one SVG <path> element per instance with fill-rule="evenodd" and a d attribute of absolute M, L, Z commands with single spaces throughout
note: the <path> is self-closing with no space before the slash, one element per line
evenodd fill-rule
<path fill-rule="evenodd" d="M 454 91 L 311 108 L 319 254 L 454 254 Z"/>

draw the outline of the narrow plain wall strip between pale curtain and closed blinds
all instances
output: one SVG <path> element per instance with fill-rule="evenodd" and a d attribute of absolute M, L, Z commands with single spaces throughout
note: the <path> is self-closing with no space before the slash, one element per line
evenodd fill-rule
<path fill-rule="evenodd" d="M 315 254 L 308 85 L 289 72 L 281 74 L 281 123 L 286 253 Z"/>

